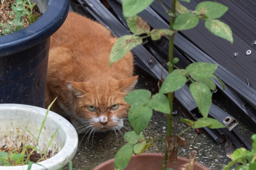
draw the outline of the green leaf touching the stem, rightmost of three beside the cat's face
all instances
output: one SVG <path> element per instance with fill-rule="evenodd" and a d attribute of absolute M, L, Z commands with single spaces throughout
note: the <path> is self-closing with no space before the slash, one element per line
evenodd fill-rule
<path fill-rule="evenodd" d="M 151 100 L 148 102 L 148 106 L 154 110 L 169 114 L 171 113 L 169 100 L 168 98 L 161 93 L 157 93 L 151 97 Z"/>

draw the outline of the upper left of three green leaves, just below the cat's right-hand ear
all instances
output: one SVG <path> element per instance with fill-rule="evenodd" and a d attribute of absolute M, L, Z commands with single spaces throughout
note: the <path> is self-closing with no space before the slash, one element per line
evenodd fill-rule
<path fill-rule="evenodd" d="M 126 94 L 124 100 L 129 103 L 132 107 L 140 107 L 146 105 L 150 100 L 151 92 L 149 90 L 139 89 L 133 90 Z"/>

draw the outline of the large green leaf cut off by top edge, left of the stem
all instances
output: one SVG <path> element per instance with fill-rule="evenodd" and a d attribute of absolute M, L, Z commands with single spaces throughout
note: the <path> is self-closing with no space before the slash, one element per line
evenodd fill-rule
<path fill-rule="evenodd" d="M 154 0 L 122 0 L 123 16 L 129 17 L 146 9 Z"/>

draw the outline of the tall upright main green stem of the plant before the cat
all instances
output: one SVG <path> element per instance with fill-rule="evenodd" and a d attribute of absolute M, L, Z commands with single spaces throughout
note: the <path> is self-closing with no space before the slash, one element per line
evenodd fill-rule
<path fill-rule="evenodd" d="M 173 14 L 173 16 L 175 16 L 175 4 L 176 4 L 176 0 L 172 0 L 172 9 L 171 12 Z M 170 17 L 170 29 L 173 31 L 173 23 L 174 23 L 175 18 L 174 17 Z M 173 40 L 174 40 L 174 35 L 170 37 L 169 39 L 169 62 L 172 63 L 173 60 Z M 172 73 L 173 71 L 173 65 L 169 66 L 169 74 Z M 170 114 L 167 115 L 167 136 L 171 136 L 172 135 L 172 101 L 173 101 L 173 93 L 169 93 L 168 94 L 168 100 L 169 100 L 169 105 L 170 105 Z M 165 155 L 164 155 L 164 160 L 163 160 L 163 167 L 162 170 L 166 170 L 166 164 L 167 164 L 167 146 L 165 143 Z"/>

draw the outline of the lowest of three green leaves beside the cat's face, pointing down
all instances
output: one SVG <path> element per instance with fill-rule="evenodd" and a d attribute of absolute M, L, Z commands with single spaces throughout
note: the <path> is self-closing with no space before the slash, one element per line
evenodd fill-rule
<path fill-rule="evenodd" d="M 140 134 L 147 126 L 152 117 L 152 109 L 148 106 L 131 107 L 128 113 L 128 119 L 135 133 Z"/>

